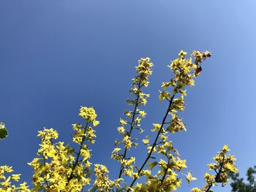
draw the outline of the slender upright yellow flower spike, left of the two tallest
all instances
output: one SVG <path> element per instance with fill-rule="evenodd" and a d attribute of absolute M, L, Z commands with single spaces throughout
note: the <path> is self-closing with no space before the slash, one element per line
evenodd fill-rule
<path fill-rule="evenodd" d="M 128 156 L 128 150 L 131 147 L 137 147 L 138 143 L 132 139 L 132 131 L 139 130 L 140 133 L 143 129 L 140 128 L 140 120 L 146 117 L 146 112 L 140 110 L 139 107 L 146 105 L 149 94 L 143 93 L 143 87 L 148 86 L 148 77 L 152 74 L 151 67 L 153 64 L 150 62 L 150 58 L 141 58 L 136 66 L 137 76 L 132 79 L 132 88 L 130 93 L 134 95 L 133 99 L 127 99 L 129 105 L 133 105 L 132 111 L 125 111 L 124 115 L 127 120 L 120 119 L 117 130 L 122 134 L 122 141 L 116 141 L 116 145 L 122 145 L 123 150 L 120 147 L 116 147 L 113 150 L 111 157 L 120 162 L 120 171 L 118 174 L 118 180 L 121 179 L 122 174 L 128 175 L 129 177 L 138 177 L 138 173 L 134 172 L 135 157 Z M 117 189 L 118 191 L 118 189 Z"/>

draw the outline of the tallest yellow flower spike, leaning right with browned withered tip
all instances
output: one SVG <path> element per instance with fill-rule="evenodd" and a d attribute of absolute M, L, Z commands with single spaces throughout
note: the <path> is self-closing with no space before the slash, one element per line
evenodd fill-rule
<path fill-rule="evenodd" d="M 158 166 L 158 172 L 155 175 L 146 175 L 146 183 L 138 183 L 133 187 L 136 177 L 132 184 L 129 185 L 131 189 L 128 191 L 173 191 L 181 185 L 181 179 L 177 177 L 178 172 L 187 168 L 186 160 L 182 160 L 178 150 L 173 147 L 172 142 L 168 139 L 168 134 L 173 134 L 179 131 L 186 131 L 185 125 L 181 118 L 178 117 L 179 112 L 184 111 L 186 96 L 186 86 L 195 84 L 194 78 L 199 74 L 201 62 L 210 57 L 209 52 L 200 53 L 198 51 L 192 52 L 192 57 L 185 58 L 183 50 L 178 54 L 178 58 L 171 61 L 170 69 L 173 72 L 173 77 L 168 82 L 162 83 L 163 91 L 160 91 L 159 101 L 167 100 L 168 107 L 162 123 L 153 123 L 154 128 L 151 131 L 156 132 L 157 136 L 153 139 L 154 142 L 149 143 L 148 137 L 143 140 L 143 143 L 148 147 L 148 154 L 143 165 L 138 169 L 138 177 L 144 176 L 142 174 L 144 166 L 148 164 L 151 170 Z M 170 91 L 168 91 L 170 89 Z M 160 157 L 159 155 L 160 154 Z M 162 155 L 162 157 L 161 157 Z M 159 159 L 157 160 L 157 158 Z M 154 161 L 150 161 L 154 159 Z M 190 173 L 191 174 L 191 173 Z M 193 178 L 192 176 L 190 176 Z M 189 176 L 187 176 L 189 178 Z M 192 180 L 192 179 L 191 179 Z M 189 180 L 190 181 L 190 180 Z"/>

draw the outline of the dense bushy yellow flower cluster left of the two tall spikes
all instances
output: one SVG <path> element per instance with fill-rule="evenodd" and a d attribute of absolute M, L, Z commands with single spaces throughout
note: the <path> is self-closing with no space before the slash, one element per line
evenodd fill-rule
<path fill-rule="evenodd" d="M 78 150 L 64 145 L 64 142 L 55 143 L 58 133 L 53 128 L 39 131 L 39 158 L 34 158 L 29 163 L 34 168 L 34 191 L 81 191 L 84 186 L 89 185 L 91 153 L 85 142 L 94 143 L 96 135 L 93 127 L 97 126 L 99 121 L 96 120 L 97 115 L 92 107 L 81 107 L 79 115 L 86 120 L 86 125 L 72 125 L 75 131 L 72 140 L 78 145 Z"/>

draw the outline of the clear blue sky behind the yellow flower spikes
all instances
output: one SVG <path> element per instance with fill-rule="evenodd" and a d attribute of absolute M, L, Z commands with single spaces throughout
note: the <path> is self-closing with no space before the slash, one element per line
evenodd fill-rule
<path fill-rule="evenodd" d="M 165 112 L 158 96 L 170 79 L 167 64 L 181 49 L 209 50 L 188 90 L 187 132 L 170 138 L 198 178 L 189 188 L 203 185 L 206 165 L 225 144 L 244 175 L 256 164 L 255 9 L 255 0 L 0 1 L 0 122 L 10 132 L 0 142 L 0 164 L 30 180 L 37 131 L 53 127 L 69 142 L 80 106 L 94 106 L 100 126 L 92 162 L 116 177 L 110 153 L 138 59 L 154 63 L 142 121 L 149 129 Z"/>

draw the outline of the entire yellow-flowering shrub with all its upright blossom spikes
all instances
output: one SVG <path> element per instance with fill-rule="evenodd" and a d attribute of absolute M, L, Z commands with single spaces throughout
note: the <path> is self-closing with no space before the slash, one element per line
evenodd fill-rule
<path fill-rule="evenodd" d="M 168 136 L 186 131 L 183 121 L 179 118 L 179 114 L 184 111 L 186 88 L 195 84 L 195 77 L 202 71 L 202 62 L 210 57 L 211 53 L 193 51 L 191 57 L 185 58 L 186 55 L 187 53 L 181 50 L 178 58 L 168 66 L 173 72 L 173 77 L 167 82 L 162 82 L 162 91 L 159 93 L 159 101 L 167 102 L 165 115 L 161 122 L 153 123 L 151 131 L 155 137 L 145 136 L 142 140 L 143 145 L 147 147 L 143 164 L 136 164 L 136 158 L 129 153 L 138 146 L 136 131 L 139 134 L 144 131 L 140 128 L 140 121 L 146 118 L 146 112 L 140 108 L 146 105 L 149 97 L 149 94 L 144 93 L 144 89 L 148 86 L 148 77 L 152 74 L 153 64 L 150 58 L 141 58 L 138 61 L 137 75 L 132 79 L 130 89 L 132 98 L 127 99 L 132 110 L 125 111 L 126 118 L 119 120 L 117 131 L 121 138 L 115 141 L 116 147 L 111 155 L 120 167 L 116 178 L 110 180 L 105 165 L 91 165 L 89 144 L 95 142 L 94 128 L 99 125 L 99 120 L 93 107 L 81 107 L 79 115 L 83 118 L 83 123 L 72 125 L 72 142 L 77 147 L 55 142 L 58 133 L 53 128 L 39 131 L 41 142 L 37 151 L 38 157 L 29 163 L 34 169 L 31 188 L 27 183 L 14 185 L 13 183 L 20 179 L 20 174 L 11 174 L 11 166 L 0 166 L 0 191 L 85 191 L 87 185 L 94 185 L 96 191 L 116 192 L 178 189 L 181 186 L 179 175 L 187 165 Z M 202 188 L 192 188 L 192 192 L 212 191 L 212 186 L 217 183 L 225 185 L 230 173 L 238 172 L 234 164 L 236 158 L 229 155 L 228 151 L 225 145 L 217 153 L 215 162 L 208 164 L 214 174 L 206 173 L 206 184 Z M 94 169 L 94 180 L 89 177 L 91 169 Z M 186 179 L 188 183 L 196 180 L 192 172 L 187 172 Z"/>

